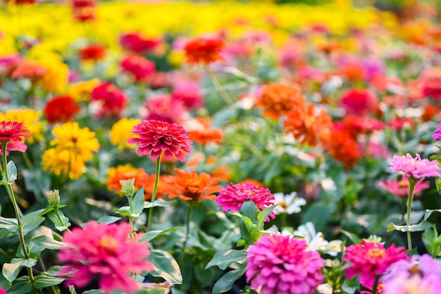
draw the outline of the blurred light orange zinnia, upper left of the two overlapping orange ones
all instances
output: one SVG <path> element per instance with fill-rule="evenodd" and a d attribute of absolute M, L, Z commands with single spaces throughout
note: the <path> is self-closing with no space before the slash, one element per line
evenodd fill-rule
<path fill-rule="evenodd" d="M 263 87 L 256 106 L 263 107 L 263 116 L 278 120 L 293 108 L 304 108 L 305 98 L 297 86 L 269 84 Z"/>

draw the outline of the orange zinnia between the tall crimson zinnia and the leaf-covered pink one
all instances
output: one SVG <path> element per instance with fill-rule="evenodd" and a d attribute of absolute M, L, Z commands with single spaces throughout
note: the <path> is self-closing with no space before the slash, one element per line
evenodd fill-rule
<path fill-rule="evenodd" d="M 213 200 L 216 198 L 216 192 L 222 189 L 217 178 L 211 178 L 208 173 L 197 174 L 196 171 L 182 171 L 176 169 L 176 176 L 170 176 L 166 179 L 168 187 L 164 193 L 168 194 L 170 199 L 180 197 L 185 201 Z"/>

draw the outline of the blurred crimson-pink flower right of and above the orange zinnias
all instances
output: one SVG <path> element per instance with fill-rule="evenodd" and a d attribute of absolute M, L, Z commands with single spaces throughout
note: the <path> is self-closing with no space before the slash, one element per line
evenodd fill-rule
<path fill-rule="evenodd" d="M 362 116 L 375 111 L 378 107 L 378 100 L 366 89 L 349 89 L 342 94 L 340 106 L 346 110 L 347 114 Z"/>

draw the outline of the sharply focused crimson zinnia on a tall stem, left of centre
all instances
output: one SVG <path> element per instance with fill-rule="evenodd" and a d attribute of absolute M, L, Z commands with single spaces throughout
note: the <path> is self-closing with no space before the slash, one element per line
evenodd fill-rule
<path fill-rule="evenodd" d="M 168 160 L 176 157 L 184 162 L 185 156 L 191 153 L 192 140 L 188 138 L 187 130 L 178 123 L 144 120 L 132 128 L 132 134 L 137 137 L 127 142 L 139 143 L 139 155 L 149 155 L 152 159 L 157 159 L 163 152 Z"/>

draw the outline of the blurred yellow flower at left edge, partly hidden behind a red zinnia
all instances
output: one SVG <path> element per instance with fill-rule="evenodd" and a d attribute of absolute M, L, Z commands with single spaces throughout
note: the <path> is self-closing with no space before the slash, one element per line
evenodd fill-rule
<path fill-rule="evenodd" d="M 23 123 L 30 130 L 30 137 L 25 139 L 29 144 L 43 138 L 44 122 L 39 121 L 42 111 L 33 109 L 9 109 L 6 113 L 0 112 L 0 121 L 17 121 Z"/>

